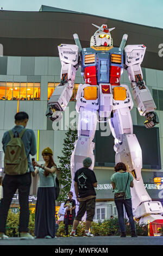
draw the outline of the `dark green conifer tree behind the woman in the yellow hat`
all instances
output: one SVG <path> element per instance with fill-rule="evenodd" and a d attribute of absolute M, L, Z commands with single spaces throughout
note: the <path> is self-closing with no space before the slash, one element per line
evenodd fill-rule
<path fill-rule="evenodd" d="M 62 156 L 58 156 L 59 169 L 61 172 L 61 178 L 59 179 L 61 190 L 57 201 L 65 202 L 67 199 L 67 193 L 71 188 L 71 168 L 70 160 L 74 150 L 74 142 L 78 138 L 77 130 L 69 130 L 66 132 L 66 138 L 64 139 L 64 147 L 62 149 Z"/>

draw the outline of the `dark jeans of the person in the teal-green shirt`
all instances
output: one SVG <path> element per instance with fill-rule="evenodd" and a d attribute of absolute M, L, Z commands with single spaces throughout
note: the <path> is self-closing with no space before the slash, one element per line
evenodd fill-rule
<path fill-rule="evenodd" d="M 127 212 L 127 216 L 129 218 L 130 230 L 135 231 L 135 222 L 133 218 L 133 210 L 132 210 L 132 202 L 131 199 L 126 200 L 116 200 L 115 204 L 118 212 L 118 222 L 120 225 L 121 232 L 126 232 L 126 226 L 124 224 L 124 212 L 123 212 L 123 204 Z"/>

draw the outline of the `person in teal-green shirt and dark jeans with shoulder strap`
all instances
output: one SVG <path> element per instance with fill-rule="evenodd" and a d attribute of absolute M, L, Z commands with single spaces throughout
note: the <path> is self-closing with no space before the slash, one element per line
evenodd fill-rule
<path fill-rule="evenodd" d="M 123 205 L 126 209 L 127 216 L 129 218 L 131 237 L 137 237 L 135 230 L 135 222 L 133 218 L 132 202 L 130 187 L 134 186 L 133 176 L 127 172 L 126 165 L 124 163 L 117 163 L 115 166 L 115 172 L 111 176 L 111 184 L 115 193 L 126 192 L 126 199 L 114 199 L 117 212 L 118 212 L 118 222 L 121 229 L 121 237 L 126 237 L 126 226 L 124 224 L 124 212 Z M 127 183 L 128 181 L 128 183 Z M 127 187 L 126 187 L 127 185 Z M 125 191 L 126 188 L 126 191 Z"/>

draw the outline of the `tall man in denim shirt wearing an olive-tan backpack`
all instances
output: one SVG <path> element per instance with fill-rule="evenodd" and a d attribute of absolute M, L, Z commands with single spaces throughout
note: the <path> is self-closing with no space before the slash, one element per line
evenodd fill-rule
<path fill-rule="evenodd" d="M 3 198 L 0 205 L 0 239 L 8 239 L 5 225 L 11 200 L 18 189 L 20 202 L 19 232 L 21 239 L 34 239 L 28 233 L 29 224 L 29 191 L 31 174 L 34 172 L 30 156 L 36 154 L 34 131 L 26 129 L 28 114 L 18 112 L 15 115 L 15 127 L 4 133 L 2 138 L 4 156 Z"/>

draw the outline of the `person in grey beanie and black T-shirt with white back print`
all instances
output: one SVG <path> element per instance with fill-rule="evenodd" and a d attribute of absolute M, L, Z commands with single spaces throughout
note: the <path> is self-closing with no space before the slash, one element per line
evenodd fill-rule
<path fill-rule="evenodd" d="M 79 210 L 74 218 L 73 228 L 70 237 L 76 236 L 76 229 L 86 212 L 85 233 L 84 237 L 93 237 L 89 232 L 91 222 L 95 215 L 96 191 L 97 187 L 96 175 L 93 170 L 89 169 L 92 164 L 90 157 L 86 157 L 83 161 L 83 168 L 77 170 L 74 176 L 74 190 L 79 202 Z"/>

